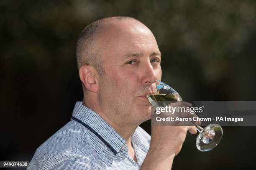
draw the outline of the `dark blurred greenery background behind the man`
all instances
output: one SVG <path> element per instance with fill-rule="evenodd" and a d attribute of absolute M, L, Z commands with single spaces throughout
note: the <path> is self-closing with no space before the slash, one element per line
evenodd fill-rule
<path fill-rule="evenodd" d="M 94 20 L 125 15 L 148 26 L 162 80 L 184 100 L 256 100 L 256 1 L 0 0 L 0 160 L 30 161 L 82 100 L 75 46 Z M 141 125 L 150 133 L 150 123 Z M 255 127 L 223 127 L 202 153 L 187 135 L 173 169 L 255 169 Z"/>

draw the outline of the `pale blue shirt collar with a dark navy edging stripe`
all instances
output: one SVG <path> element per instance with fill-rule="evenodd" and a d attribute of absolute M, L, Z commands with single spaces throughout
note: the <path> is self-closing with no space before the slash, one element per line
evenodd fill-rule
<path fill-rule="evenodd" d="M 94 133 L 115 155 L 126 143 L 125 139 L 104 119 L 88 107 L 82 105 L 82 102 L 76 102 L 71 119 L 84 125 Z"/>

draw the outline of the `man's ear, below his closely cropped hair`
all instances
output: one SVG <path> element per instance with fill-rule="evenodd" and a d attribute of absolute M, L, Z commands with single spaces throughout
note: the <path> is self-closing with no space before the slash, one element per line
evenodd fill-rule
<path fill-rule="evenodd" d="M 87 90 L 91 92 L 97 92 L 99 90 L 99 75 L 94 67 L 83 65 L 79 69 L 79 77 Z"/>

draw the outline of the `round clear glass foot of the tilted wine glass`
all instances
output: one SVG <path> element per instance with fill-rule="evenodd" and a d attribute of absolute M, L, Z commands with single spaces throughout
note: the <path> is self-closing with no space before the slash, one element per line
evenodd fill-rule
<path fill-rule="evenodd" d="M 215 148 L 222 138 L 223 130 L 218 124 L 210 124 L 197 136 L 197 149 L 206 152 Z"/>

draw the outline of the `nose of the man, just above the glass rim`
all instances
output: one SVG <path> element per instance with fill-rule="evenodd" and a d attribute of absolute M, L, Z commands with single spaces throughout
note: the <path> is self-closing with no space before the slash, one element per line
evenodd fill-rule
<path fill-rule="evenodd" d="M 154 83 L 157 80 L 156 70 L 154 70 L 150 61 L 146 62 L 143 66 L 142 74 L 142 82 L 145 85 Z"/>

